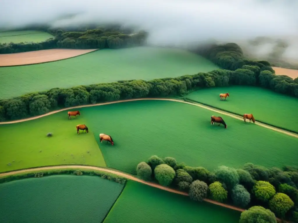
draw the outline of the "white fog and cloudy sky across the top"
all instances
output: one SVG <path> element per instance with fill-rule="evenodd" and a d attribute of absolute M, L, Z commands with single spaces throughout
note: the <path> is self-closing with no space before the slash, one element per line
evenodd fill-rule
<path fill-rule="evenodd" d="M 214 38 L 298 36 L 298 0 L 0 0 L 0 28 L 54 21 L 86 21 L 139 26 L 156 44 L 185 44 Z"/>

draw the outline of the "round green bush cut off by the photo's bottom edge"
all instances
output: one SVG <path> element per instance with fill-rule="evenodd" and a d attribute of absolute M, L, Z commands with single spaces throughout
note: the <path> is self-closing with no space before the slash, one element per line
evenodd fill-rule
<path fill-rule="evenodd" d="M 240 215 L 239 223 L 277 223 L 275 215 L 269 209 L 253 206 Z"/>

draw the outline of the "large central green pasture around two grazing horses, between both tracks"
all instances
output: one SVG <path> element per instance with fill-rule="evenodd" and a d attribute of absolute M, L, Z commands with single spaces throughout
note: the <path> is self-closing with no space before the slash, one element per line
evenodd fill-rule
<path fill-rule="evenodd" d="M 81 114 L 107 166 L 132 174 L 152 155 L 210 170 L 247 162 L 266 167 L 297 164 L 297 138 L 197 106 L 143 100 L 83 108 Z M 211 115 L 223 117 L 228 128 L 211 125 Z M 100 143 L 100 133 L 111 135 L 114 146 Z"/>

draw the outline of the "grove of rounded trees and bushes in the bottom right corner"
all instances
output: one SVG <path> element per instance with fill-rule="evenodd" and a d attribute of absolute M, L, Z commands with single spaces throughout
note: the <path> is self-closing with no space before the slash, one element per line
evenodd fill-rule
<path fill-rule="evenodd" d="M 275 215 L 298 222 L 298 168 L 295 167 L 266 168 L 247 163 L 242 169 L 220 166 L 211 172 L 204 167 L 177 164 L 171 157 L 151 156 L 147 162 L 139 163 L 136 170 L 141 179 L 186 191 L 192 200 L 208 197 L 249 208 L 241 215 L 240 222 L 248 222 L 252 216 L 276 222 Z"/>

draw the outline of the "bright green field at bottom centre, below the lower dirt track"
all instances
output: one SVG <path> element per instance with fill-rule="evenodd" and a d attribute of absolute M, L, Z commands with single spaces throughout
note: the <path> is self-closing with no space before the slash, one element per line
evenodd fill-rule
<path fill-rule="evenodd" d="M 239 218 L 240 212 L 128 181 L 104 223 L 237 223 Z"/>

